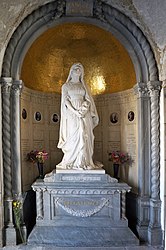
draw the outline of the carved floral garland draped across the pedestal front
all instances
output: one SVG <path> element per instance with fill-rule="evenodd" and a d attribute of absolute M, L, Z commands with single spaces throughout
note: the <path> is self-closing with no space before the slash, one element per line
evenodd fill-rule
<path fill-rule="evenodd" d="M 94 209 L 87 209 L 87 210 L 75 210 L 69 206 L 64 205 L 63 203 L 64 203 L 64 200 L 62 198 L 57 198 L 55 200 L 55 204 L 60 206 L 68 214 L 71 214 L 77 217 L 90 217 L 98 213 L 104 206 L 108 205 L 109 200 L 102 198 L 100 201 L 100 204 L 97 207 L 95 207 Z"/>

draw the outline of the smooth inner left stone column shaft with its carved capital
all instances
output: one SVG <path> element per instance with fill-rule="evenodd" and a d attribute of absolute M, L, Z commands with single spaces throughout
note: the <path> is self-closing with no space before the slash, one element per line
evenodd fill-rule
<path fill-rule="evenodd" d="M 20 141 L 20 92 L 22 81 L 14 81 L 11 89 L 11 138 L 12 138 L 12 175 L 13 195 L 21 195 L 21 141 Z"/>

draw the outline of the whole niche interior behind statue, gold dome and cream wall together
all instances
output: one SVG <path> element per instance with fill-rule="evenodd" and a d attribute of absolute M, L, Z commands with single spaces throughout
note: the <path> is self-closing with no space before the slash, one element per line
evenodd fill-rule
<path fill-rule="evenodd" d="M 62 152 L 57 148 L 61 86 L 75 62 L 84 66 L 85 81 L 100 117 L 95 129 L 94 158 L 103 162 L 106 171 L 113 175 L 108 152 L 128 152 L 134 161 L 132 167 L 121 169 L 120 178 L 137 191 L 137 110 L 133 93 L 136 75 L 133 63 L 111 32 L 77 22 L 45 31 L 33 42 L 22 64 L 21 79 L 25 84 L 21 95 L 22 114 L 26 111 L 26 119 L 23 115 L 21 117 L 23 188 L 27 191 L 38 174 L 37 168 L 26 161 L 29 151 L 42 148 L 49 152 L 45 173 L 54 169 L 62 158 Z M 131 111 L 134 113 L 132 121 L 128 118 Z"/>

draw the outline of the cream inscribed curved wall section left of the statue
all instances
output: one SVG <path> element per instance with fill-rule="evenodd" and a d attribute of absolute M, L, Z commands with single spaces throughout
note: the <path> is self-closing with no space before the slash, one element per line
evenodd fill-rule
<path fill-rule="evenodd" d="M 50 143 L 50 140 L 54 139 L 57 145 L 59 137 L 59 122 L 53 122 L 52 115 L 59 114 L 60 96 L 24 88 L 21 95 L 21 110 L 23 108 L 27 111 L 27 117 L 21 117 L 22 179 L 23 189 L 27 191 L 38 176 L 37 167 L 26 161 L 28 152 L 36 149 L 45 149 L 49 152 L 49 159 L 44 164 L 45 173 L 50 172 L 62 157 L 61 152 L 56 152 L 53 142 Z M 41 120 L 36 120 L 36 112 L 41 113 Z"/>

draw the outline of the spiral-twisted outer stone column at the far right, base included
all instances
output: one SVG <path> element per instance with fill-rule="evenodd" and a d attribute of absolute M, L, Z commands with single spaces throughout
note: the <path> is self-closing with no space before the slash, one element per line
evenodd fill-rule
<path fill-rule="evenodd" d="M 160 201 L 160 133 L 159 98 L 161 82 L 150 81 L 147 84 L 151 99 L 151 183 L 150 183 L 150 222 L 148 240 L 151 245 L 162 243 L 161 201 Z"/>

